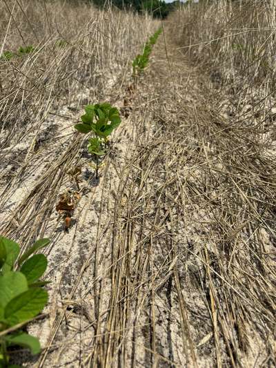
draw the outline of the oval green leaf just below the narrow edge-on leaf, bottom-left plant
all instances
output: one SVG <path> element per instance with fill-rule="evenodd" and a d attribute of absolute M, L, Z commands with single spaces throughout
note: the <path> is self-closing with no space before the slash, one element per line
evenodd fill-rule
<path fill-rule="evenodd" d="M 32 255 L 23 263 L 20 271 L 26 276 L 28 284 L 36 282 L 43 275 L 47 268 L 47 258 L 43 254 Z"/>

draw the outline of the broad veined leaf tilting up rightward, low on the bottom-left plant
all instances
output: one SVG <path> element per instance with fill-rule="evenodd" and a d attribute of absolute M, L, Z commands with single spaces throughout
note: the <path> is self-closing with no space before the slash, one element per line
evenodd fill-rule
<path fill-rule="evenodd" d="M 34 318 L 42 311 L 47 300 L 46 290 L 38 287 L 28 289 L 8 302 L 4 314 L 5 322 L 12 326 Z"/>

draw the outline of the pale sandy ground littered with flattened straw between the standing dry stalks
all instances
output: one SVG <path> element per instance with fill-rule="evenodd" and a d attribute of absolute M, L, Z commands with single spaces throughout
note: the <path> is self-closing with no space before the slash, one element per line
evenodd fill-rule
<path fill-rule="evenodd" d="M 17 142 L 2 129 L 0 233 L 52 240 L 50 302 L 28 327 L 44 349 L 26 367 L 275 366 L 275 141 L 230 123 L 235 94 L 182 55 L 175 18 L 163 25 L 144 75 L 127 56 L 95 94 L 124 115 L 99 180 L 73 128 L 88 89 L 41 105 Z M 67 233 L 55 204 L 78 165 Z"/>

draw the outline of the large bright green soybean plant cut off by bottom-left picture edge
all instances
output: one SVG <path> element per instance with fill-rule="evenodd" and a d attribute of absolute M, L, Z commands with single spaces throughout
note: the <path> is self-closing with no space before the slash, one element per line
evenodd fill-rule
<path fill-rule="evenodd" d="M 49 242 L 38 240 L 19 257 L 19 245 L 0 237 L 0 368 L 19 367 L 9 365 L 9 349 L 14 345 L 28 348 L 32 354 L 38 354 L 41 349 L 39 340 L 22 327 L 48 301 L 47 291 L 41 288 L 48 282 L 39 280 L 46 271 L 47 258 L 33 253 Z"/>

